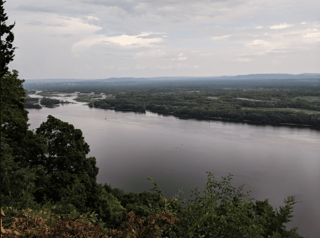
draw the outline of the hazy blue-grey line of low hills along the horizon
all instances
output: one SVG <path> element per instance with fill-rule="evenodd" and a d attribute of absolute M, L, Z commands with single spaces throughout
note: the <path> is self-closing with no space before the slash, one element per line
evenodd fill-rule
<path fill-rule="evenodd" d="M 119 81 L 149 81 L 149 80 L 220 80 L 220 79 L 320 79 L 320 73 L 303 73 L 303 74 L 246 74 L 237 76 L 208 76 L 208 77 L 153 77 L 153 78 L 106 78 L 106 79 L 75 79 L 75 78 L 48 78 L 48 79 L 26 79 L 24 84 L 34 83 L 52 83 L 52 82 L 119 82 Z"/>

